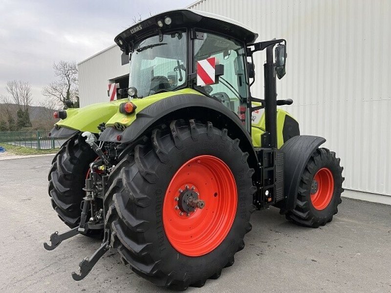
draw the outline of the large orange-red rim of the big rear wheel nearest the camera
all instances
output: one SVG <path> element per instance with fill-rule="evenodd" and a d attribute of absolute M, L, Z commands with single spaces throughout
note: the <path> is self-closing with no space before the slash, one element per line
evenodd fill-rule
<path fill-rule="evenodd" d="M 193 197 L 203 201 L 204 207 L 185 204 Z M 195 157 L 176 171 L 166 190 L 164 231 L 176 251 L 187 256 L 204 255 L 217 248 L 231 230 L 237 205 L 230 168 L 214 156 Z"/>

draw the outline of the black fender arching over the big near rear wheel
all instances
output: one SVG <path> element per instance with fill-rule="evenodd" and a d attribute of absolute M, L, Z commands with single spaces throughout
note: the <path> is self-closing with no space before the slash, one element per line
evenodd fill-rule
<path fill-rule="evenodd" d="M 136 119 L 124 130 L 106 127 L 99 137 L 101 141 L 131 143 L 154 126 L 175 119 L 195 119 L 212 122 L 218 128 L 227 128 L 228 134 L 239 138 L 240 148 L 249 153 L 248 163 L 257 170 L 258 159 L 251 137 L 239 117 L 214 99 L 199 94 L 179 94 L 167 97 L 136 113 Z"/>

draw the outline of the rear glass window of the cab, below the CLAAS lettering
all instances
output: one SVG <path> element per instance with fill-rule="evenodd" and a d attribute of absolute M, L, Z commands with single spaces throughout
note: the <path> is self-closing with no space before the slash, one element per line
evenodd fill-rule
<path fill-rule="evenodd" d="M 186 34 L 174 32 L 137 43 L 131 54 L 129 86 L 137 97 L 171 91 L 186 83 Z"/>

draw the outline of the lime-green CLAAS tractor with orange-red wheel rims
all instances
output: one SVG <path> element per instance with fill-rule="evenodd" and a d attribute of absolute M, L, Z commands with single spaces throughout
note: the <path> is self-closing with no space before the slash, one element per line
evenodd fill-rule
<path fill-rule="evenodd" d="M 326 140 L 300 135 L 278 105 L 286 42 L 255 42 L 236 21 L 196 10 L 164 12 L 114 40 L 130 62 L 120 99 L 59 111 L 49 195 L 77 234 L 103 243 L 80 263 L 83 279 L 109 249 L 139 276 L 185 290 L 234 263 L 253 211 L 274 206 L 317 228 L 337 213 L 343 168 Z M 253 97 L 253 55 L 266 51 L 264 97 Z"/>

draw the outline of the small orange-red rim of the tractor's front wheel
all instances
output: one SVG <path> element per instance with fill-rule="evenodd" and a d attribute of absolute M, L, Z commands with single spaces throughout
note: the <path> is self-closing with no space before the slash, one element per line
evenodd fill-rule
<path fill-rule="evenodd" d="M 311 202 L 315 209 L 326 209 L 334 193 L 334 177 L 330 169 L 316 172 L 311 185 Z"/>

